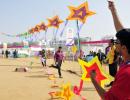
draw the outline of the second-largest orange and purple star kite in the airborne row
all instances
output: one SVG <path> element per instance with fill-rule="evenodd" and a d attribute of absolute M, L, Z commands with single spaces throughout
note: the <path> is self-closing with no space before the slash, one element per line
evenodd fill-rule
<path fill-rule="evenodd" d="M 49 21 L 48 27 L 59 28 L 59 25 L 63 23 L 63 21 L 60 20 L 58 16 L 54 16 L 52 19 L 48 19 L 48 21 Z"/>

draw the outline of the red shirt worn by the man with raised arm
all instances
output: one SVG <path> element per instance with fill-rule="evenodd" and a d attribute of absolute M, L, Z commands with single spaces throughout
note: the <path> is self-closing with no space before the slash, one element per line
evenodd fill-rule
<path fill-rule="evenodd" d="M 130 100 L 130 64 L 121 66 L 105 100 Z"/>

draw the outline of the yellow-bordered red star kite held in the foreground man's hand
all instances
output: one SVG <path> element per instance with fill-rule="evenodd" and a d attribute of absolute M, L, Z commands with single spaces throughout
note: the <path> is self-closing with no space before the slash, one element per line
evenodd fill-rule
<path fill-rule="evenodd" d="M 94 57 L 91 61 L 85 62 L 78 59 L 80 66 L 83 69 L 82 80 L 90 81 L 90 72 L 95 70 L 96 81 L 104 87 L 105 84 L 110 83 L 114 78 L 109 74 L 105 73 L 103 67 L 101 66 L 98 57 Z"/>

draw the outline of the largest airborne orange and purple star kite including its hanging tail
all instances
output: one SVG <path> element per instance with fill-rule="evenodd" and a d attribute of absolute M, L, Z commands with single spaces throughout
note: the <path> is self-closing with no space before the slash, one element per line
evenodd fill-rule
<path fill-rule="evenodd" d="M 88 9 L 87 2 L 81 4 L 78 7 L 69 6 L 69 9 L 70 9 L 71 13 L 68 16 L 67 20 L 76 20 L 76 22 L 77 22 L 78 52 L 80 52 L 80 35 L 79 35 L 80 30 L 81 30 L 82 26 L 84 25 L 84 23 L 86 22 L 87 17 L 91 16 L 95 13 Z M 81 23 L 82 23 L 80 26 L 79 26 L 78 21 L 81 21 Z"/>

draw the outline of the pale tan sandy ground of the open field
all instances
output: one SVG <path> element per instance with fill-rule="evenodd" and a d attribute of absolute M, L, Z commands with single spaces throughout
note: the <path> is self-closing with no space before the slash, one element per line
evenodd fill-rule
<path fill-rule="evenodd" d="M 52 59 L 47 60 L 48 66 L 53 63 Z M 28 72 L 14 71 L 15 68 L 22 67 L 28 67 Z M 52 85 L 61 86 L 70 82 L 72 87 L 79 86 L 81 74 L 78 62 L 65 61 L 62 64 L 63 78 L 58 78 L 57 69 L 49 70 L 55 74 L 55 80 L 48 79 L 38 58 L 0 58 L 0 100 L 52 100 L 48 93 L 60 90 L 51 88 Z M 72 74 L 67 70 L 73 70 L 78 74 Z M 101 100 L 91 82 L 84 82 L 81 95 L 87 100 Z M 71 100 L 81 98 L 74 95 Z"/>

